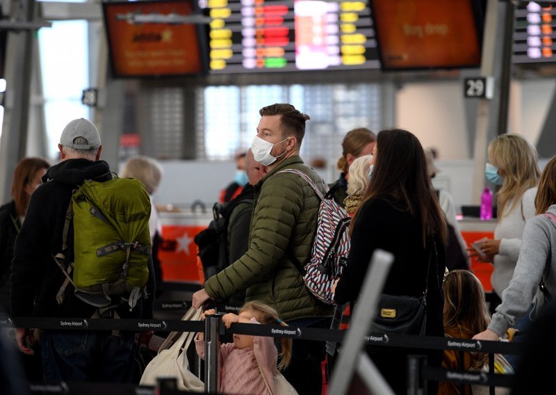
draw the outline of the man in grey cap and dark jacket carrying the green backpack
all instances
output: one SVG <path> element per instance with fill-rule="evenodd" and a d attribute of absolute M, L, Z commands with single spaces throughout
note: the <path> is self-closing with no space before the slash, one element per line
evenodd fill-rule
<path fill-rule="evenodd" d="M 62 161 L 52 166 L 31 196 L 26 218 L 15 241 L 12 264 L 12 315 L 17 317 L 60 317 L 68 328 L 83 325 L 96 308 L 76 298 L 67 287 L 63 302 L 56 294 L 65 277 L 53 256 L 62 250 L 65 215 L 72 191 L 85 179 L 103 181 L 111 178 L 108 163 L 100 161 L 102 151 L 99 132 L 94 124 L 83 118 L 72 120 L 60 137 Z M 74 261 L 73 227 L 67 234 L 66 261 Z M 131 309 L 124 305 L 117 309 L 122 318 L 152 318 L 154 271 L 149 259 L 147 294 Z M 80 320 L 81 319 L 81 320 Z M 42 362 L 44 378 L 52 381 L 111 381 L 131 382 L 135 353 L 134 332 L 43 330 Z M 19 350 L 33 354 L 28 347 L 31 332 L 16 329 Z"/>

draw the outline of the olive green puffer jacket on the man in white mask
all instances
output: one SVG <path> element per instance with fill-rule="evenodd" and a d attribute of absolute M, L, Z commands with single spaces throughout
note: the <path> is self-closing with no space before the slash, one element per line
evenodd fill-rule
<path fill-rule="evenodd" d="M 284 321 L 331 316 L 333 307 L 306 289 L 289 258 L 293 253 L 304 263 L 311 257 L 320 199 L 300 176 L 277 174 L 285 168 L 302 170 L 326 192 L 321 177 L 300 156 L 284 159 L 255 186 L 249 249 L 206 280 L 204 289 L 212 298 L 227 298 L 246 289 L 245 301 L 259 300 L 274 307 Z"/>

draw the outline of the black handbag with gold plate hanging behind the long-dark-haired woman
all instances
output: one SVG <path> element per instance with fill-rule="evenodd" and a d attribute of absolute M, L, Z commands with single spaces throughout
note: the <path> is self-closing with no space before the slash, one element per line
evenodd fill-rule
<path fill-rule="evenodd" d="M 436 255 L 436 243 L 434 243 L 433 248 Z M 383 293 L 378 303 L 377 317 L 373 322 L 373 332 L 425 334 L 425 327 L 427 326 L 427 289 L 433 248 L 430 249 L 423 295 L 416 297 Z"/>

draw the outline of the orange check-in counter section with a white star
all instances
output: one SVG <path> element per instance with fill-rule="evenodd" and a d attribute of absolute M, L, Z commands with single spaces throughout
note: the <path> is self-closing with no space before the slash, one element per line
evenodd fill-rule
<path fill-rule="evenodd" d="M 213 219 L 211 210 L 162 207 L 159 209 L 163 241 L 158 249 L 162 279 L 166 282 L 202 282 L 195 235 Z"/>

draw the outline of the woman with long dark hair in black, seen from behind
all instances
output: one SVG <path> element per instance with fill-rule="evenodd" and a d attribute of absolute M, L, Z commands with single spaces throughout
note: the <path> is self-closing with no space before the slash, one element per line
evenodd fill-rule
<path fill-rule="evenodd" d="M 369 175 L 350 227 L 351 250 L 336 284 L 336 303 L 357 300 L 370 257 L 380 248 L 394 255 L 383 292 L 420 296 L 427 284 L 425 335 L 444 336 L 440 284 L 447 230 L 416 136 L 402 129 L 380 131 Z M 442 362 L 442 350 L 367 346 L 367 351 L 396 394 L 407 393 L 407 355 L 426 354 L 429 366 Z M 436 389 L 437 383 L 429 382 L 429 394 Z"/>

